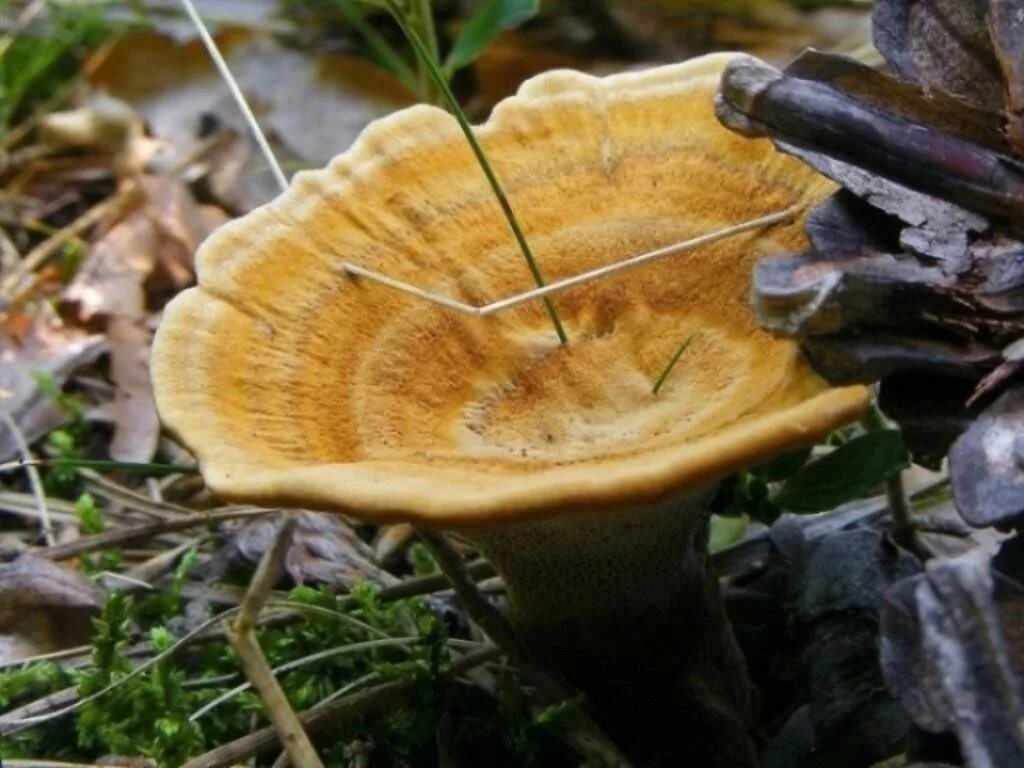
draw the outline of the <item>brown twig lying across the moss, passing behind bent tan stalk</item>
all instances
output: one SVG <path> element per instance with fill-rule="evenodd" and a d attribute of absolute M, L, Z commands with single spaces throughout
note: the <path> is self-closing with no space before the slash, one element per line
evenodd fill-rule
<path fill-rule="evenodd" d="M 496 647 L 471 651 L 452 664 L 452 673 L 461 675 L 500 655 L 501 651 Z M 385 707 L 403 703 L 415 686 L 416 683 L 412 680 L 392 680 L 382 683 L 330 703 L 318 703 L 300 713 L 299 722 L 309 733 L 325 727 L 338 727 Z M 226 768 L 270 750 L 275 744 L 278 744 L 276 730 L 272 726 L 261 728 L 188 761 L 182 768 Z"/>

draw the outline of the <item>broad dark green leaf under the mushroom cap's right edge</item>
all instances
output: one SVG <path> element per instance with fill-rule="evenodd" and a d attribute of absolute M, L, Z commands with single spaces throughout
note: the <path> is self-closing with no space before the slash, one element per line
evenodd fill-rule
<path fill-rule="evenodd" d="M 792 512 L 822 512 L 864 496 L 908 464 L 899 431 L 868 432 L 805 465 L 772 502 Z"/>

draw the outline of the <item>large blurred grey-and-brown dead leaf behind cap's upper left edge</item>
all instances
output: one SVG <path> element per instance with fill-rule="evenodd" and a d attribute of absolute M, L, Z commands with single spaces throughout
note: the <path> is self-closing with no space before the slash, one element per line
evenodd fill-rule
<path fill-rule="evenodd" d="M 390 75 L 355 56 L 309 54 L 237 30 L 217 41 L 287 166 L 326 164 L 372 120 L 414 101 Z M 214 174 L 211 184 L 226 205 L 249 210 L 280 191 L 199 41 L 133 35 L 115 47 L 92 82 L 139 111 L 154 135 L 169 142 L 169 163 L 188 156 L 211 131 L 232 133 L 237 142 L 216 161 L 230 172 Z"/>

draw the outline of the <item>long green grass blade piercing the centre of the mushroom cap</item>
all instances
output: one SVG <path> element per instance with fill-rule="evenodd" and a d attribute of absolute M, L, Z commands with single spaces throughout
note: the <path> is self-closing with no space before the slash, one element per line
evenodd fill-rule
<path fill-rule="evenodd" d="M 515 211 L 512 210 L 512 204 L 505 195 L 505 188 L 502 186 L 501 181 L 498 180 L 498 175 L 495 173 L 494 168 L 490 167 L 490 161 L 487 160 L 487 156 L 484 154 L 483 147 L 480 146 L 480 142 L 477 141 L 476 134 L 473 133 L 473 128 L 470 126 L 469 120 L 466 118 L 466 114 L 462 111 L 462 106 L 459 104 L 459 99 L 455 97 L 455 93 L 453 93 L 452 88 L 449 87 L 447 80 L 444 79 L 444 74 L 441 72 L 440 66 L 435 60 L 434 56 L 431 55 L 427 45 L 420 39 L 416 30 L 414 30 L 409 24 L 409 19 L 406 17 L 401 8 L 397 6 L 394 0 L 388 0 L 387 6 L 395 20 L 398 23 L 398 26 L 401 28 L 402 33 L 409 39 L 409 43 L 413 46 L 413 50 L 416 52 L 417 57 L 423 62 L 424 67 L 426 67 L 427 72 L 434 81 L 434 85 L 436 85 L 438 90 L 440 90 L 441 95 L 449 104 L 450 112 L 458 121 L 459 127 L 466 136 L 466 141 L 469 142 L 469 146 L 473 151 L 473 155 L 476 157 L 476 162 L 479 164 L 480 170 L 483 171 L 483 175 L 487 178 L 487 183 L 490 184 L 495 198 L 498 200 L 498 205 L 501 206 L 502 213 L 505 214 L 505 218 L 508 220 L 509 227 L 512 229 L 512 234 L 515 237 L 516 243 L 519 245 L 519 250 L 522 251 L 523 258 L 526 260 L 526 266 L 529 268 L 529 272 L 534 276 L 534 282 L 537 284 L 538 288 L 543 288 L 545 286 L 544 275 L 541 273 L 541 268 L 537 264 L 537 259 L 534 258 L 534 252 L 530 250 L 529 243 L 526 241 L 526 234 L 519 224 L 519 219 L 516 217 Z M 552 303 L 551 299 L 544 297 L 544 306 L 548 310 L 548 316 L 551 318 L 552 325 L 555 327 L 555 333 L 558 336 L 559 342 L 567 344 L 568 336 L 565 334 L 565 329 L 562 326 L 561 318 L 558 316 L 558 310 L 555 309 L 554 303 Z"/>

